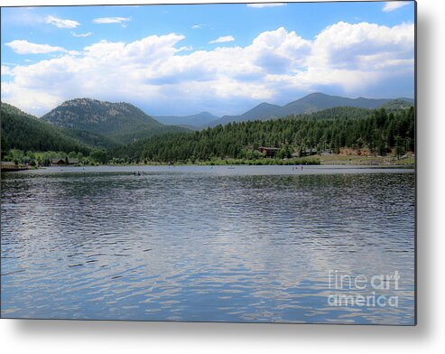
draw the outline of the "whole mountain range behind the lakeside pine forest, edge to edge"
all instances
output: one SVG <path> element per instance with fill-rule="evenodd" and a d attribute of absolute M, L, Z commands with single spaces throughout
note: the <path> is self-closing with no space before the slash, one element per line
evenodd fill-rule
<path fill-rule="evenodd" d="M 239 116 L 215 116 L 201 112 L 191 116 L 160 116 L 162 123 L 181 124 L 166 126 L 125 102 L 103 102 L 91 98 L 76 98 L 62 103 L 49 113 L 37 118 L 19 108 L 2 103 L 2 144 L 9 140 L 11 148 L 23 150 L 83 151 L 91 148 L 113 148 L 118 145 L 166 133 L 190 132 L 204 126 L 217 126 L 229 122 L 268 120 L 283 116 L 300 116 L 324 113 L 327 117 L 367 116 L 365 111 L 341 109 L 386 110 L 407 109 L 413 106 L 412 98 L 341 98 L 325 94 L 311 94 L 285 106 L 262 103 Z M 329 111 L 329 109 L 333 109 Z M 185 127 L 190 127 L 189 129 Z M 4 139 L 5 138 L 5 139 Z"/>

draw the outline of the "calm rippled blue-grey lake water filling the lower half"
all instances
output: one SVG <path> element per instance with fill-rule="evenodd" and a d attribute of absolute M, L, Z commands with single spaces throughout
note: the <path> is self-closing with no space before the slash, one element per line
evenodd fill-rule
<path fill-rule="evenodd" d="M 3 173 L 2 317 L 413 324 L 414 187 L 341 166 Z"/>

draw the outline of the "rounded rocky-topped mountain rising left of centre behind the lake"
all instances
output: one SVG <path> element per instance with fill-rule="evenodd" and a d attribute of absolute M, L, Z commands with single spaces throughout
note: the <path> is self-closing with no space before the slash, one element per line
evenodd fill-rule
<path fill-rule="evenodd" d="M 91 98 L 76 98 L 42 116 L 55 126 L 105 136 L 116 144 L 163 133 L 180 132 L 184 128 L 164 126 L 141 109 L 125 102 L 104 102 Z"/>

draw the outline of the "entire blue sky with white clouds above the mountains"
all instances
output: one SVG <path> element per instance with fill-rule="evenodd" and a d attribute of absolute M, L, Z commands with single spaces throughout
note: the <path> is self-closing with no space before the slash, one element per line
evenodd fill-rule
<path fill-rule="evenodd" d="M 413 2 L 1 9 L 1 99 L 241 114 L 312 92 L 414 97 Z"/>

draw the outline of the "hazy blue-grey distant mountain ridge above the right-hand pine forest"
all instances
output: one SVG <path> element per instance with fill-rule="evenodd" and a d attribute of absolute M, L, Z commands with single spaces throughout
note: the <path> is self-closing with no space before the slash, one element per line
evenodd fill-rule
<path fill-rule="evenodd" d="M 393 98 L 343 98 L 339 96 L 329 96 L 323 93 L 311 93 L 310 95 L 297 99 L 285 106 L 271 105 L 264 102 L 242 115 L 222 116 L 218 120 L 211 122 L 209 126 L 217 126 L 218 124 L 225 125 L 229 122 L 268 120 L 283 116 L 301 115 L 333 107 L 375 109 L 383 107 L 392 101 L 394 101 Z M 396 98 L 395 101 L 405 102 L 407 105 L 413 105 L 414 103 L 412 98 Z"/>

